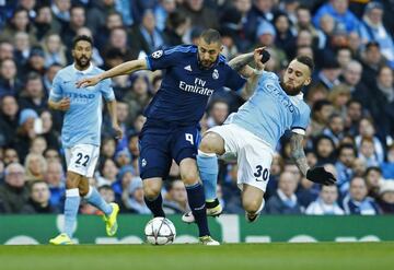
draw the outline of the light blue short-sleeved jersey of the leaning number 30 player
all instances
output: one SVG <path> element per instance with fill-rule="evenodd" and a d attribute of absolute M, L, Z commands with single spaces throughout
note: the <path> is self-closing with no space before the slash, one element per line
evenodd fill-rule
<path fill-rule="evenodd" d="M 280 86 L 279 78 L 264 72 L 253 96 L 227 119 L 259 137 L 275 150 L 286 130 L 304 134 L 311 109 L 302 94 L 289 96 Z"/>

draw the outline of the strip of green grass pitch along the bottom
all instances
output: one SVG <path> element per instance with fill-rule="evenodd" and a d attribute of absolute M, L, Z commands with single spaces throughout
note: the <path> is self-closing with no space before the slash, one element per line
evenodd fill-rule
<path fill-rule="evenodd" d="M 394 269 L 394 243 L 0 246 L 1 270 Z"/>

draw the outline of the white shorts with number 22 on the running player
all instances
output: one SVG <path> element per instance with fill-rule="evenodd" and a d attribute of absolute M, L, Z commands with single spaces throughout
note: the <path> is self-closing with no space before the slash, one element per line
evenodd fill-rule
<path fill-rule="evenodd" d="M 92 177 L 97 164 L 100 148 L 93 144 L 77 144 L 65 150 L 67 171 Z"/>

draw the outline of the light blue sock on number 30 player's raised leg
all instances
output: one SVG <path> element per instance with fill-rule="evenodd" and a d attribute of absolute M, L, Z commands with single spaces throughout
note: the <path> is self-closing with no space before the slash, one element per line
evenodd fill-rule
<path fill-rule="evenodd" d="M 198 150 L 197 165 L 204 185 L 206 201 L 213 201 L 217 198 L 218 157 L 216 154 L 207 154 Z"/>

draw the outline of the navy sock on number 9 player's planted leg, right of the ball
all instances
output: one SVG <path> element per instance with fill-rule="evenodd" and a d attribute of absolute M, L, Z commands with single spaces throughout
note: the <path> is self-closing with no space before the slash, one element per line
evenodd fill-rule
<path fill-rule="evenodd" d="M 205 206 L 205 195 L 201 184 L 186 187 L 187 199 L 196 220 L 199 236 L 210 235 L 207 221 L 207 209 Z"/>

